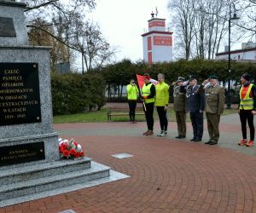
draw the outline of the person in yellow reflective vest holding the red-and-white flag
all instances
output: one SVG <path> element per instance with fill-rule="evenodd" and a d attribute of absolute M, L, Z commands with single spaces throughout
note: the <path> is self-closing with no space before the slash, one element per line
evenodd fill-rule
<path fill-rule="evenodd" d="M 154 84 L 150 82 L 150 77 L 148 73 L 143 75 L 144 85 L 142 89 L 143 101 L 144 101 L 144 112 L 146 116 L 146 121 L 148 125 L 148 130 L 143 133 L 143 135 L 153 135 L 154 129 L 154 96 L 155 96 L 155 87 Z"/>

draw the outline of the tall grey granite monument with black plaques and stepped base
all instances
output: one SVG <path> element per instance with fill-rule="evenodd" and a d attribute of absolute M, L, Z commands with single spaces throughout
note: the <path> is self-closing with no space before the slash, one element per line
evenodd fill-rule
<path fill-rule="evenodd" d="M 0 0 L 0 207 L 115 179 L 110 168 L 90 158 L 60 160 L 50 48 L 28 45 L 25 8 Z"/>

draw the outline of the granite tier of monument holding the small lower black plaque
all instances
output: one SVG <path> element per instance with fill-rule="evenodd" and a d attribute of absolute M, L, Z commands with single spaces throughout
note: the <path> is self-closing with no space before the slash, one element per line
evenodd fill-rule
<path fill-rule="evenodd" d="M 58 141 L 56 132 L 1 139 L 1 170 L 59 160 L 56 141 Z"/>

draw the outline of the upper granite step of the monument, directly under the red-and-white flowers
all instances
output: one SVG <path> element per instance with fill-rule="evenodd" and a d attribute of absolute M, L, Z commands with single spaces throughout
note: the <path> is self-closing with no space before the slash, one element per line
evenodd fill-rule
<path fill-rule="evenodd" d="M 60 160 L 42 164 L 34 164 L 15 169 L 1 170 L 0 185 L 13 184 L 20 181 L 29 181 L 47 176 L 64 174 L 81 169 L 90 168 L 90 158 L 79 160 Z"/>

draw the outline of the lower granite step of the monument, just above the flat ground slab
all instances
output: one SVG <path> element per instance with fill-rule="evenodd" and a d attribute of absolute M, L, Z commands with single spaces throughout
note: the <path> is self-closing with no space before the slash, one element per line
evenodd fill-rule
<path fill-rule="evenodd" d="M 97 164 L 84 170 L 67 172 L 59 175 L 41 177 L 30 181 L 21 181 L 0 187 L 0 200 L 13 199 L 33 193 L 42 193 L 55 188 L 92 181 L 109 176 L 108 166 Z"/>

